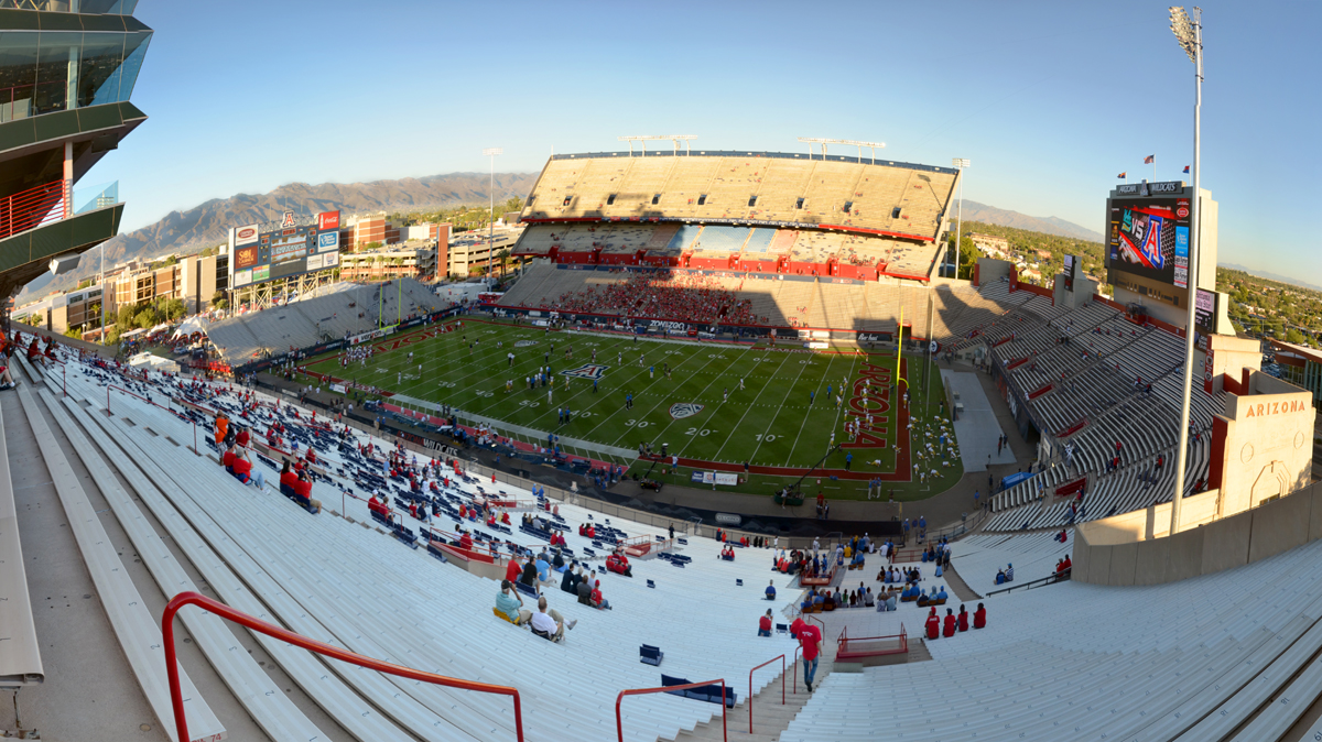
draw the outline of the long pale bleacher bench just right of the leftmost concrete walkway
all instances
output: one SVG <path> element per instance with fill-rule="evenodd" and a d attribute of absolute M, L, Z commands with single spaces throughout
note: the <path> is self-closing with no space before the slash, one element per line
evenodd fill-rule
<path fill-rule="evenodd" d="M 93 584 L 97 586 L 97 594 L 106 610 L 106 617 L 115 631 L 115 636 L 119 639 L 130 667 L 134 669 L 134 676 L 143 691 L 143 696 L 151 705 L 157 721 L 165 729 L 173 730 L 175 710 L 171 705 L 169 681 L 165 675 L 165 650 L 161 642 L 160 626 L 147 609 L 147 602 L 139 594 L 114 544 L 106 535 L 95 507 L 89 500 L 83 486 L 78 482 L 78 477 L 70 469 L 54 433 L 46 424 L 41 404 L 34 397 L 32 388 L 29 384 L 21 386 L 19 388 L 19 400 L 26 416 L 30 434 L 36 440 L 41 450 L 41 457 L 45 459 L 46 469 L 54 482 L 59 503 L 69 518 L 69 525 L 82 553 L 83 562 L 91 574 Z M 45 393 L 49 395 L 49 392 Z M 11 420 L 11 422 L 13 421 Z M 75 449 L 79 448 L 79 442 L 85 444 L 85 441 L 70 438 L 70 444 Z M 104 467 L 89 465 L 87 469 L 97 475 Z M 180 668 L 180 688 L 184 696 L 184 712 L 189 722 L 189 733 L 202 739 L 213 737 L 223 738 L 226 734 L 223 725 L 201 697 L 201 693 L 198 693 L 184 668 Z"/>

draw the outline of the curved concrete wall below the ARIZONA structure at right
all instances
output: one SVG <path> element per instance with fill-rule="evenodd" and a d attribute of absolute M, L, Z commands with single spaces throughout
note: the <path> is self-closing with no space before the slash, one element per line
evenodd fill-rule
<path fill-rule="evenodd" d="M 1185 503 L 1192 499 L 1185 498 Z M 1165 535 L 1170 529 L 1170 504 L 1165 507 L 1166 525 L 1161 529 L 1147 527 L 1159 518 L 1159 512 L 1149 512 L 1154 508 L 1138 511 L 1144 516 L 1124 514 L 1079 525 L 1071 577 L 1092 585 L 1163 585 L 1252 564 L 1322 539 L 1322 483 L 1174 536 Z M 1186 510 L 1181 508 L 1182 524 L 1187 522 Z M 1150 531 L 1157 533 L 1149 536 Z"/>

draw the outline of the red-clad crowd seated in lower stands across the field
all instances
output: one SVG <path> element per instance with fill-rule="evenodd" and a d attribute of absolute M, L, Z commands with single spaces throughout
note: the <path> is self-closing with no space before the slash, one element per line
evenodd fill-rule
<path fill-rule="evenodd" d="M 767 325 L 752 313 L 751 298 L 738 298 L 722 279 L 701 273 L 636 273 L 620 284 L 588 285 L 561 294 L 542 309 L 566 313 L 620 314 L 698 323 Z"/>

